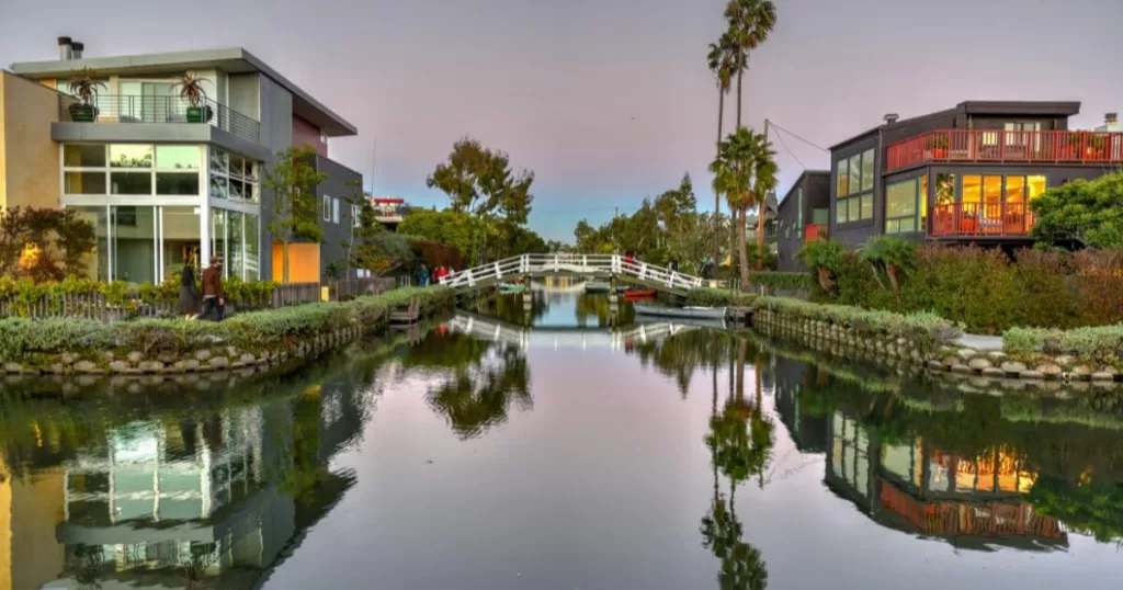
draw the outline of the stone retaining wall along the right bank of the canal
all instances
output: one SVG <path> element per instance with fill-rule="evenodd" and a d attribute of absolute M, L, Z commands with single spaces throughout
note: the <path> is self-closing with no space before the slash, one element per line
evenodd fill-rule
<path fill-rule="evenodd" d="M 1121 373 L 1114 366 L 1079 364 L 1071 356 L 1041 356 L 1034 363 L 1025 363 L 1011 360 L 1002 352 L 984 353 L 970 348 L 943 347 L 937 353 L 925 354 L 917 343 L 905 338 L 861 335 L 852 328 L 793 317 L 774 309 L 755 310 L 752 326 L 769 337 L 794 338 L 837 356 L 876 361 L 900 365 L 902 369 L 926 367 L 930 372 L 946 375 L 978 378 L 975 381 L 978 381 L 976 384 L 979 387 L 986 382 L 1011 384 L 1010 381 L 1015 381 L 1074 385 L 1084 383 L 1110 389 L 1121 381 Z"/>

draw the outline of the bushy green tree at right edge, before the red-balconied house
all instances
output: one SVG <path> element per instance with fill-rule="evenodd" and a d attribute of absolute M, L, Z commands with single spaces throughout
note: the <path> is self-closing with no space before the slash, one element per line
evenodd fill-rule
<path fill-rule="evenodd" d="M 1047 189 L 1030 209 L 1037 214 L 1033 237 L 1044 245 L 1123 248 L 1123 172 Z"/>

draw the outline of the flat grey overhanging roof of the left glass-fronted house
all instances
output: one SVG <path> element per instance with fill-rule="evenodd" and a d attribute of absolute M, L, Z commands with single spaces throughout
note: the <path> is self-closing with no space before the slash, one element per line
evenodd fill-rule
<path fill-rule="evenodd" d="M 227 73 L 257 72 L 268 76 L 291 92 L 292 111 L 320 127 L 323 135 L 329 137 L 358 135 L 358 129 L 347 121 L 347 119 L 344 119 L 323 106 L 322 102 L 316 100 L 311 94 L 243 47 L 11 64 L 12 72 L 31 79 L 66 76 L 72 71 L 83 67 L 90 67 L 102 74 L 145 74 L 165 72 L 168 69 L 202 70 L 210 67 L 216 67 Z"/>

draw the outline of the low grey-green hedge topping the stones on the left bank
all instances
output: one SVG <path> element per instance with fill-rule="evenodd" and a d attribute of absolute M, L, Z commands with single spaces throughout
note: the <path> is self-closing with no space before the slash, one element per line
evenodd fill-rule
<path fill-rule="evenodd" d="M 366 329 L 385 324 L 394 307 L 417 297 L 420 311 L 431 315 L 451 307 L 455 293 L 444 287 L 396 289 L 347 302 L 321 302 L 239 314 L 226 321 L 137 319 L 102 323 L 92 319 L 0 319 L 0 363 L 26 362 L 71 353 L 98 358 L 102 352 L 140 352 L 183 356 L 211 346 L 249 352 L 294 348 L 316 336 L 343 328 Z"/>

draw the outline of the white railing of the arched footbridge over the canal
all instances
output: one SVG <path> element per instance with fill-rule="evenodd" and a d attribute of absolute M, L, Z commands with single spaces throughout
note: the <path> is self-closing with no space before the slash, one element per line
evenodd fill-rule
<path fill-rule="evenodd" d="M 483 264 L 441 279 L 454 288 L 477 287 L 526 275 L 622 275 L 667 290 L 702 287 L 703 280 L 619 254 L 523 254 Z"/>

